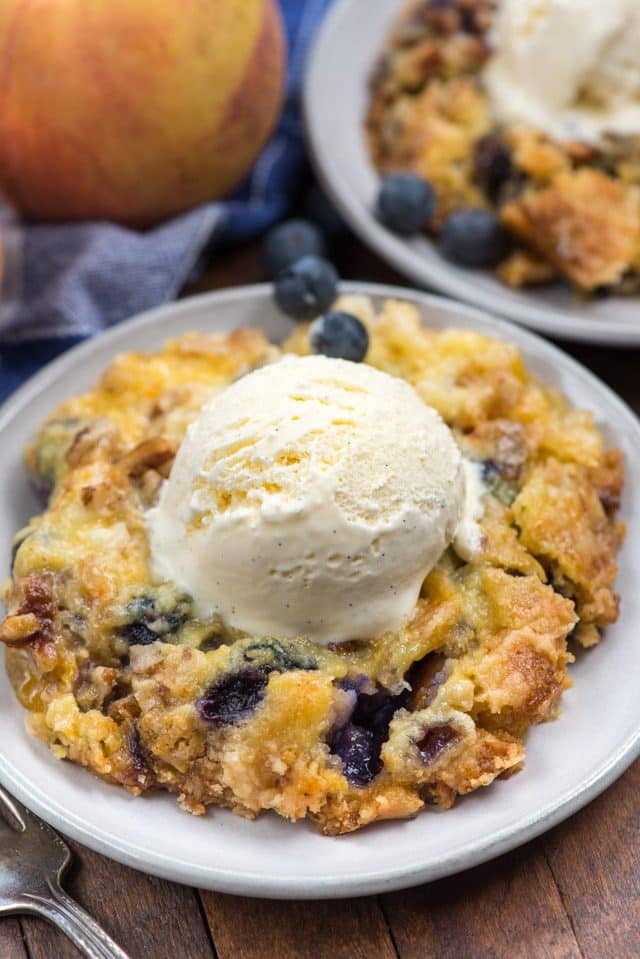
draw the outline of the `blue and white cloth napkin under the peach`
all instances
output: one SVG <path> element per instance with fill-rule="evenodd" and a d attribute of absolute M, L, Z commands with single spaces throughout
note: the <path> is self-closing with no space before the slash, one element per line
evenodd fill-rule
<path fill-rule="evenodd" d="M 144 232 L 104 222 L 23 226 L 3 211 L 0 400 L 63 350 L 175 297 L 205 249 L 248 239 L 286 213 L 305 164 L 304 62 L 330 3 L 280 0 L 289 46 L 285 108 L 249 177 L 223 202 Z"/>

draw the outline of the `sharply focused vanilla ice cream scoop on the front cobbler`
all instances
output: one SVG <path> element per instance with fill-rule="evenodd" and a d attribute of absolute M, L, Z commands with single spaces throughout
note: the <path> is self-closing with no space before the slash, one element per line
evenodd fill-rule
<path fill-rule="evenodd" d="M 459 526 L 468 542 L 465 489 L 450 430 L 404 380 L 287 357 L 189 428 L 149 515 L 154 573 L 254 635 L 375 637 Z"/>

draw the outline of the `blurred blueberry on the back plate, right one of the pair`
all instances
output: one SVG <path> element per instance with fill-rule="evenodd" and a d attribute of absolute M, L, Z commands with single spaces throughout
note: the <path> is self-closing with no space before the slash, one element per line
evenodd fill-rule
<path fill-rule="evenodd" d="M 505 256 L 507 246 L 500 220 L 488 210 L 457 210 L 442 227 L 442 255 L 461 266 L 496 266 Z"/>

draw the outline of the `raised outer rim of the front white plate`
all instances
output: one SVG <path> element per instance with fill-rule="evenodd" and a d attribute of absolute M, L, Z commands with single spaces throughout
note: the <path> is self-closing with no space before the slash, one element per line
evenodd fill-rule
<path fill-rule="evenodd" d="M 126 340 L 130 330 L 153 326 L 162 317 L 188 315 L 191 311 L 197 312 L 203 306 L 205 308 L 215 308 L 217 304 L 233 300 L 264 299 L 271 295 L 271 289 L 270 284 L 262 283 L 199 294 L 177 303 L 169 303 L 145 311 L 99 336 L 73 347 L 61 357 L 47 364 L 3 404 L 0 408 L 0 432 L 6 423 L 12 421 L 32 399 L 35 399 L 43 389 L 46 389 L 48 383 L 58 380 L 68 369 L 75 368 L 84 355 L 102 349 L 105 344 L 111 342 L 116 344 L 120 339 Z M 624 423 L 631 428 L 640 439 L 640 421 L 638 421 L 631 408 L 607 384 L 603 383 L 581 363 L 574 360 L 573 357 L 568 356 L 558 347 L 530 331 L 514 327 L 507 321 L 495 318 L 467 304 L 457 303 L 421 290 L 411 290 L 388 284 L 351 282 L 341 284 L 341 292 L 383 298 L 404 298 L 427 309 L 431 307 L 445 309 L 448 312 L 455 311 L 461 322 L 464 322 L 465 317 L 481 323 L 488 322 L 495 329 L 496 335 L 515 341 L 519 347 L 530 346 L 536 356 L 551 360 L 554 365 L 557 365 L 558 358 L 561 358 L 564 369 L 571 370 L 574 376 L 583 380 L 585 385 L 596 385 L 599 392 L 604 391 L 607 399 L 616 407 L 617 413 L 621 417 L 621 425 Z M 452 325 L 455 325 L 453 321 Z M 488 838 L 472 840 L 464 850 L 456 854 L 441 857 L 436 863 L 426 866 L 398 866 L 393 869 L 361 873 L 356 877 L 347 877 L 346 879 L 338 874 L 305 879 L 304 881 L 300 878 L 281 878 L 275 874 L 269 875 L 262 872 L 255 873 L 245 870 L 238 873 L 219 867 L 194 866 L 186 860 L 168 857 L 163 853 L 139 847 L 130 840 L 120 839 L 119 837 L 114 840 L 111 835 L 107 838 L 107 834 L 101 830 L 99 825 L 87 825 L 86 819 L 83 820 L 75 811 L 65 810 L 57 800 L 47 797 L 46 792 L 40 785 L 36 784 L 34 789 L 33 783 L 22 774 L 19 767 L 5 760 L 1 744 L 0 782 L 28 808 L 63 834 L 84 843 L 96 852 L 152 875 L 187 885 L 197 885 L 201 888 L 244 896 L 268 896 L 278 899 L 346 898 L 355 895 L 387 892 L 430 882 L 471 868 L 516 848 L 562 822 L 589 803 L 611 785 L 638 756 L 640 756 L 640 715 L 636 721 L 635 731 L 628 735 L 612 752 L 607 762 L 601 764 L 590 776 L 583 778 L 581 783 L 571 787 L 560 798 L 556 797 L 555 800 L 541 807 L 536 813 L 522 816 L 517 823 L 500 830 L 494 830 Z M 341 841 L 344 841 L 344 839 Z"/>

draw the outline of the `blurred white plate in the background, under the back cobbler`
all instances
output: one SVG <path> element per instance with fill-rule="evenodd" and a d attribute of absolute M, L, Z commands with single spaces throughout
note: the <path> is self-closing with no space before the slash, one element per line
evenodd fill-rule
<path fill-rule="evenodd" d="M 511 290 L 489 271 L 448 263 L 426 237 L 396 236 L 375 219 L 379 178 L 363 135 L 368 80 L 406 3 L 337 0 L 321 28 L 308 63 L 304 106 L 308 143 L 327 193 L 355 232 L 416 283 L 551 336 L 640 345 L 640 297 L 585 304 L 560 284 Z"/>

